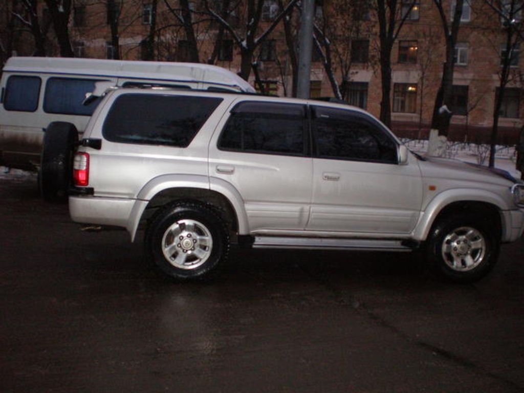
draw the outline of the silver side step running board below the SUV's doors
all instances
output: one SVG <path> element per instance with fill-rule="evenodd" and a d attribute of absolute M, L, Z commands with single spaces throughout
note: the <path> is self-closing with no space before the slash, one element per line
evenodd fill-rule
<path fill-rule="evenodd" d="M 411 251 L 408 242 L 388 239 L 334 239 L 310 237 L 255 236 L 253 248 L 355 249 L 373 251 Z"/>

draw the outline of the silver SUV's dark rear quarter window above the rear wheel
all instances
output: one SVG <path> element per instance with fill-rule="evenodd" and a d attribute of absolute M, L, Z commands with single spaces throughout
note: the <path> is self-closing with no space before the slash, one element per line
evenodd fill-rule
<path fill-rule="evenodd" d="M 115 100 L 102 134 L 112 142 L 187 147 L 221 98 L 123 94 Z"/>

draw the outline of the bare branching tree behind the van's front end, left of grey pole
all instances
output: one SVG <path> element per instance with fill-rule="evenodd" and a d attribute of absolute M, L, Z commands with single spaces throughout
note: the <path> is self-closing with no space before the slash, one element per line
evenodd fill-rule
<path fill-rule="evenodd" d="M 210 7 L 208 0 L 204 0 L 205 7 L 210 15 L 213 16 L 215 20 L 221 24 L 226 31 L 229 32 L 234 42 L 240 49 L 241 66 L 239 75 L 246 81 L 248 80 L 253 68 L 253 56 L 255 50 L 260 45 L 260 43 L 271 34 L 280 20 L 290 12 L 297 1 L 298 0 L 290 0 L 286 7 L 281 9 L 280 13 L 275 17 L 274 20 L 272 20 L 269 27 L 267 27 L 261 34 L 258 35 L 264 0 L 246 0 L 246 24 L 244 25 L 245 34 L 242 35 L 241 29 L 235 29 L 220 15 L 219 12 L 217 12 L 217 10 Z"/>

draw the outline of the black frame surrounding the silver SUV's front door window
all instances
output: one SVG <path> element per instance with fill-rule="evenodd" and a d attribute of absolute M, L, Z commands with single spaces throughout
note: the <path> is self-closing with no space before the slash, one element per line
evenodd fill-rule
<path fill-rule="evenodd" d="M 394 150 L 395 150 L 395 159 L 390 161 L 386 159 L 366 159 L 366 158 L 350 158 L 350 157 L 336 157 L 336 156 L 321 156 L 319 154 L 319 146 L 318 146 L 318 135 L 316 135 L 316 127 L 315 127 L 315 119 L 316 118 L 322 118 L 317 115 L 317 111 L 319 110 L 328 110 L 333 112 L 339 112 L 343 113 L 344 118 L 343 121 L 356 121 L 359 123 L 365 124 L 367 127 L 375 129 L 376 132 L 382 134 L 386 139 L 390 141 L 392 144 Z M 369 162 L 369 163 L 381 163 L 381 164 L 388 164 L 388 165 L 398 165 L 399 157 L 398 157 L 398 141 L 391 135 L 391 133 L 382 126 L 379 122 L 377 122 L 373 117 L 370 117 L 369 115 L 366 115 L 361 112 L 352 111 L 352 110 L 345 110 L 342 108 L 332 108 L 332 107 L 325 107 L 320 105 L 311 105 L 310 106 L 310 118 L 311 118 L 311 143 L 312 143 L 312 157 L 316 159 L 322 159 L 322 160 L 337 160 L 337 161 L 348 161 L 348 162 Z M 346 118 L 348 117 L 349 120 Z M 340 117 L 339 117 L 340 118 Z M 336 117 L 335 117 L 336 119 Z M 373 139 L 377 141 L 378 140 L 373 136 Z"/>

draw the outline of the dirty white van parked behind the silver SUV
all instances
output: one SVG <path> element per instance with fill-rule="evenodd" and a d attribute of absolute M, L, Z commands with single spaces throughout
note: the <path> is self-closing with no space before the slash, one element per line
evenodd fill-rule
<path fill-rule="evenodd" d="M 37 170 L 49 123 L 73 124 L 83 133 L 100 99 L 82 105 L 95 82 L 115 86 L 254 93 L 238 75 L 195 63 L 13 57 L 7 60 L 0 95 L 0 165 Z"/>

